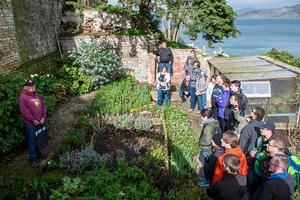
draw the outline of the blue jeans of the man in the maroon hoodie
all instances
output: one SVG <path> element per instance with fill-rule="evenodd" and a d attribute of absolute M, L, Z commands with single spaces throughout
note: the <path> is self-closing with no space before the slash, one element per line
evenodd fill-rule
<path fill-rule="evenodd" d="M 35 142 L 35 127 L 33 125 L 26 126 L 26 136 L 29 149 L 29 161 L 36 160 L 37 155 L 41 152 L 37 149 Z"/>

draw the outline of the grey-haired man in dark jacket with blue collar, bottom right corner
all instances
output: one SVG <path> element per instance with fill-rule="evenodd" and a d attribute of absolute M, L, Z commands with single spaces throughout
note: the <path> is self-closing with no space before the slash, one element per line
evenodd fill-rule
<path fill-rule="evenodd" d="M 271 159 L 268 180 L 258 189 L 250 200 L 289 200 L 295 192 L 295 180 L 287 173 L 289 160 L 286 156 L 276 154 Z"/>

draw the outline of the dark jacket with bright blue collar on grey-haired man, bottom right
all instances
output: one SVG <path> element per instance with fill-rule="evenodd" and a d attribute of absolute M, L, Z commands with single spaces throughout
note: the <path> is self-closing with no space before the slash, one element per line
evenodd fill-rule
<path fill-rule="evenodd" d="M 295 180 L 287 172 L 273 174 L 256 191 L 251 200 L 289 200 L 295 192 Z"/>

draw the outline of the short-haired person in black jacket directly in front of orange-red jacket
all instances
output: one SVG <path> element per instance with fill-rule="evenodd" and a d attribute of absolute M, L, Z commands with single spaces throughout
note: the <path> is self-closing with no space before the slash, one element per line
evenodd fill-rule
<path fill-rule="evenodd" d="M 207 188 L 212 199 L 240 200 L 246 193 L 246 176 L 239 174 L 241 159 L 233 154 L 224 157 L 224 174 L 226 178 Z"/>

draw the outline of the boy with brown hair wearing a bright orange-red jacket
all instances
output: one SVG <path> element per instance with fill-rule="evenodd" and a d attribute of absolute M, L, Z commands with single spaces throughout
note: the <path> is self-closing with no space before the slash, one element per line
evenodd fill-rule
<path fill-rule="evenodd" d="M 239 144 L 239 138 L 235 133 L 227 131 L 223 134 L 223 137 L 221 139 L 221 146 L 224 147 L 226 150 L 225 153 L 223 153 L 217 159 L 212 185 L 224 179 L 223 161 L 224 161 L 224 156 L 227 154 L 236 155 L 241 159 L 241 168 L 239 172 L 240 174 L 247 176 L 247 159 L 245 154 L 242 152 L 241 148 L 238 146 L 238 144 Z"/>

